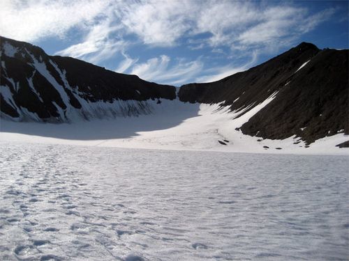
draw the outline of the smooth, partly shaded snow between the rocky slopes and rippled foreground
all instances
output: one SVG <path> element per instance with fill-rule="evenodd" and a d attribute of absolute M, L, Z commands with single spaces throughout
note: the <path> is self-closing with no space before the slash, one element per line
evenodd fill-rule
<path fill-rule="evenodd" d="M 241 127 L 276 95 L 272 94 L 265 102 L 249 108 L 244 114 L 242 110 L 230 112 L 228 107 L 221 107 L 219 104 L 161 100 L 161 104 L 147 101 L 147 108 L 151 108 L 151 111 L 138 117 L 125 118 L 120 117 L 121 114 L 112 120 L 80 120 L 70 124 L 0 120 L 0 141 L 162 150 L 349 155 L 347 148 L 336 147 L 337 144 L 349 140 L 349 136 L 343 133 L 325 137 L 312 143 L 310 148 L 305 148 L 304 142 L 298 143 L 299 138 L 295 136 L 284 140 L 260 139 L 244 135 L 235 129 Z M 227 145 L 218 143 L 223 140 L 229 141 Z"/>

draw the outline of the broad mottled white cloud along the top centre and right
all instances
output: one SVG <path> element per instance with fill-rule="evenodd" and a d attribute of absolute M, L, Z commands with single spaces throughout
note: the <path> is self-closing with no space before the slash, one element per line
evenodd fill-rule
<path fill-rule="evenodd" d="M 146 45 L 181 45 L 181 38 L 192 40 L 208 33 L 199 45 L 189 48 L 233 46 L 236 50 L 295 40 L 328 19 L 333 10 L 309 16 L 308 9 L 292 3 L 149 0 L 116 8 L 115 13 L 126 31 Z"/>

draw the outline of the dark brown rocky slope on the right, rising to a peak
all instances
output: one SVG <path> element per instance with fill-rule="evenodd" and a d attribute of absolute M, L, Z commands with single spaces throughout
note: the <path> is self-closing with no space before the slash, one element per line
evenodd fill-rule
<path fill-rule="evenodd" d="M 303 42 L 246 72 L 207 84 L 184 85 L 179 99 L 224 102 L 222 106 L 239 111 L 252 109 L 277 92 L 272 102 L 242 125 L 244 134 L 264 139 L 296 134 L 307 143 L 338 132 L 349 134 L 348 52 L 320 50 Z"/>

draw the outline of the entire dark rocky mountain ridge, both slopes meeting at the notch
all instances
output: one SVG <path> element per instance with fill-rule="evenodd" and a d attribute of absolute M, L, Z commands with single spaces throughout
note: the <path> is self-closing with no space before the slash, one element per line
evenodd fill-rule
<path fill-rule="evenodd" d="M 72 122 L 138 116 L 152 113 L 163 99 L 178 98 L 219 103 L 230 109 L 232 118 L 247 119 L 237 126 L 239 132 L 262 139 L 296 135 L 313 143 L 325 136 L 349 134 L 348 50 L 320 50 L 302 42 L 246 72 L 181 86 L 176 95 L 173 86 L 75 58 L 48 56 L 27 42 L 0 37 L 0 47 L 1 118 Z"/>

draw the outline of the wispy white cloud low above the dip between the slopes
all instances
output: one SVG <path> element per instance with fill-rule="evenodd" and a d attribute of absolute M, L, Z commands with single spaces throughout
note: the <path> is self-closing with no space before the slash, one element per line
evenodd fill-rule
<path fill-rule="evenodd" d="M 202 70 L 203 64 L 198 61 L 180 59 L 176 65 L 170 65 L 170 57 L 162 55 L 151 58 L 146 63 L 136 64 L 131 74 L 136 74 L 147 81 L 166 84 L 184 84 Z"/>

